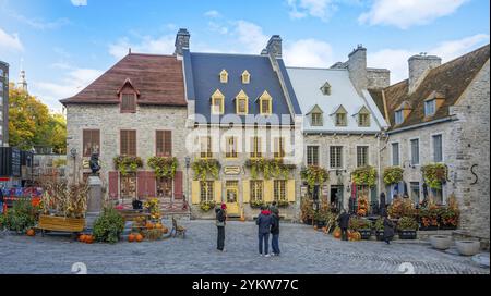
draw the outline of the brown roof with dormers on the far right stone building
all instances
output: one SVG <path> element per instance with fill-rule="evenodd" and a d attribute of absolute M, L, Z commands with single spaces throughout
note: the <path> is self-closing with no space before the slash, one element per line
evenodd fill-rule
<path fill-rule="evenodd" d="M 408 94 L 408 79 L 382 90 L 370 90 L 370 94 L 379 98 L 378 106 L 386 121 L 390 122 L 391 130 L 395 125 L 394 113 L 404 102 L 409 104 L 412 111 L 402 124 L 397 125 L 397 130 L 445 119 L 450 115 L 450 107 L 457 102 L 489 58 L 490 45 L 487 45 L 430 70 L 411 94 Z M 435 114 L 428 118 L 424 115 L 424 101 L 433 98 L 444 99 L 444 101 Z"/>

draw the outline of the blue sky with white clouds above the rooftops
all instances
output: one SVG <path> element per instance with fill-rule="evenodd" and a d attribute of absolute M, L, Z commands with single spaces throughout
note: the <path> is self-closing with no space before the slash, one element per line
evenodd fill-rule
<path fill-rule="evenodd" d="M 173 53 L 181 27 L 195 52 L 256 54 L 280 35 L 290 66 L 328 67 L 361 44 L 397 83 L 414 54 L 446 62 L 489 44 L 489 11 L 488 0 L 0 0 L 0 60 L 53 112 L 129 48 Z"/>

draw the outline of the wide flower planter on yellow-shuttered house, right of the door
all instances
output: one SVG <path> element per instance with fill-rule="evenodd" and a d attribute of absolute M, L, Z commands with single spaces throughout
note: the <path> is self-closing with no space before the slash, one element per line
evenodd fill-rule
<path fill-rule="evenodd" d="M 244 165 L 250 168 L 253 180 L 258 178 L 260 173 L 265 180 L 271 177 L 288 178 L 290 171 L 297 168 L 295 164 L 285 164 L 278 159 L 248 159 Z"/>

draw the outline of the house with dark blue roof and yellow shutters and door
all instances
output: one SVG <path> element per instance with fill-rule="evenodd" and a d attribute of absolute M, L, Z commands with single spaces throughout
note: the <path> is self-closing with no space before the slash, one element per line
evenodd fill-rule
<path fill-rule="evenodd" d="M 258 205 L 276 200 L 280 215 L 295 219 L 301 115 L 282 59 L 280 37 L 273 36 L 255 55 L 191 52 L 189 38 L 185 29 L 178 33 L 176 52 L 182 54 L 192 115 L 192 166 L 219 165 L 217 175 L 207 172 L 200 177 L 193 170 L 193 217 L 214 217 L 202 206 L 225 202 L 229 217 L 251 219 L 259 214 Z M 256 170 L 252 163 L 278 165 L 271 168 L 284 173 Z"/>

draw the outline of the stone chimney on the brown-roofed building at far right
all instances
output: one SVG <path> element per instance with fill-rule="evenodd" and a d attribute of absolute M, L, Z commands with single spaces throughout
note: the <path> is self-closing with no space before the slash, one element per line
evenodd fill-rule
<path fill-rule="evenodd" d="M 435 55 L 427 55 L 426 52 L 409 58 L 409 92 L 415 91 L 429 70 L 442 64 L 442 59 Z"/>

